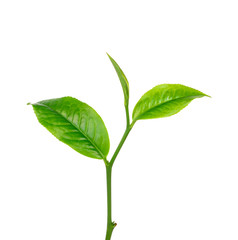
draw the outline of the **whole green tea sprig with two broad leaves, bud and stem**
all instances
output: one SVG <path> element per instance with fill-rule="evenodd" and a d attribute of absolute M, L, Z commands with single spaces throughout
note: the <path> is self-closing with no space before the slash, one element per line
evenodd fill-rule
<path fill-rule="evenodd" d="M 111 239 L 116 223 L 111 214 L 112 167 L 128 134 L 139 120 L 172 116 L 185 108 L 192 100 L 208 95 L 181 84 L 160 84 L 146 92 L 129 115 L 129 83 L 116 61 L 107 54 L 119 77 L 124 93 L 126 129 L 111 160 L 107 160 L 110 141 L 107 128 L 99 114 L 89 105 L 72 97 L 43 100 L 34 104 L 38 121 L 58 140 L 75 151 L 96 159 L 106 166 L 107 179 L 107 231 L 106 240 Z"/>

